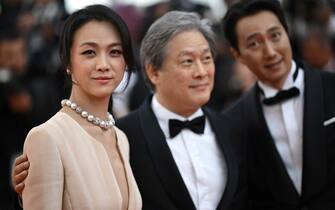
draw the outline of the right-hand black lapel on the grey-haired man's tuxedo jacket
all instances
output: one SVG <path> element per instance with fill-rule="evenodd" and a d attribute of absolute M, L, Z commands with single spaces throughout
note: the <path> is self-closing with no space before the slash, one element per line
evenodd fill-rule
<path fill-rule="evenodd" d="M 221 151 L 223 152 L 226 164 L 227 164 L 227 183 L 224 193 L 221 197 L 217 209 L 227 209 L 230 202 L 233 200 L 234 193 L 238 185 L 238 167 L 236 158 L 231 147 L 231 139 L 229 139 L 229 131 L 224 125 L 225 122 L 221 120 L 215 113 L 204 108 L 203 109 L 211 127 L 215 133 L 215 137 L 219 143 Z"/>

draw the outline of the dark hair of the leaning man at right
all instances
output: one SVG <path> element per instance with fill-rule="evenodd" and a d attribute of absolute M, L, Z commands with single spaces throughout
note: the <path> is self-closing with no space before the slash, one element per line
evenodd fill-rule
<path fill-rule="evenodd" d="M 288 33 L 288 27 L 285 20 L 284 12 L 281 8 L 280 2 L 277 0 L 251 0 L 240 1 L 234 3 L 228 9 L 226 15 L 222 19 L 222 29 L 225 38 L 230 43 L 231 47 L 238 50 L 236 25 L 239 20 L 244 17 L 255 15 L 262 11 L 272 12 L 283 25 L 285 31 Z"/>

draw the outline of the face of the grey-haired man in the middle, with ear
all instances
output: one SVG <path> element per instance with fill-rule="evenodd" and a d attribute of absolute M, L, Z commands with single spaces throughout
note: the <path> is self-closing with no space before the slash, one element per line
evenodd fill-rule
<path fill-rule="evenodd" d="M 193 114 L 213 88 L 215 67 L 207 40 L 194 30 L 176 35 L 167 44 L 162 67 L 147 73 L 162 105 L 183 116 Z"/>

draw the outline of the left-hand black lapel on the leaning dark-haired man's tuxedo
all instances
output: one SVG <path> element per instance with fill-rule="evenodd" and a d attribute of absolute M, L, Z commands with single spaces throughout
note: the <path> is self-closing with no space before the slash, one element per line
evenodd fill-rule
<path fill-rule="evenodd" d="M 248 115 L 247 120 L 250 125 L 248 126 L 248 134 L 253 138 L 248 140 L 249 155 L 256 156 L 259 164 L 265 166 L 264 170 L 266 171 L 268 186 L 273 189 L 273 194 L 277 199 L 285 202 L 296 202 L 299 199 L 299 194 L 288 175 L 266 124 L 256 86 L 253 87 L 247 96 L 244 112 Z M 254 164 L 257 163 L 254 161 Z"/>

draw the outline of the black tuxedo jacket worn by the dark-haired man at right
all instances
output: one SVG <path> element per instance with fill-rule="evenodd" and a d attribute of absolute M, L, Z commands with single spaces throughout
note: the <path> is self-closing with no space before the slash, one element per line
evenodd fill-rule
<path fill-rule="evenodd" d="M 302 193 L 289 178 L 267 127 L 259 91 L 254 86 L 225 111 L 235 122 L 235 138 L 247 141 L 251 209 L 335 209 L 335 74 L 306 66 L 303 110 Z"/>

